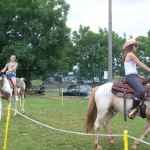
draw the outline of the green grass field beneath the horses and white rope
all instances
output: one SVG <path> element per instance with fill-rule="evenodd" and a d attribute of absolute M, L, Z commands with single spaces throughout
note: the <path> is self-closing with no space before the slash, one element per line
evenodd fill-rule
<path fill-rule="evenodd" d="M 65 98 L 61 105 L 61 97 L 54 96 L 51 92 L 45 95 L 27 95 L 25 103 L 26 116 L 42 124 L 57 129 L 85 133 L 84 122 L 86 119 L 88 99 Z M 3 108 L 7 103 L 3 101 Z M 12 102 L 12 108 L 14 107 Z M 5 126 L 7 110 L 3 110 L 0 122 L 0 149 L 4 146 Z M 124 122 L 123 115 L 118 113 L 110 123 L 110 129 L 114 134 L 128 134 L 139 138 L 144 131 L 145 119 L 137 117 L 134 120 Z M 100 133 L 105 134 L 104 130 Z M 40 124 L 34 123 L 21 115 L 11 117 L 9 123 L 7 150 L 95 150 L 92 136 L 77 135 L 56 131 Z M 112 150 L 106 137 L 101 137 L 101 145 L 104 150 Z M 150 141 L 150 136 L 145 139 Z M 129 139 L 129 147 L 133 139 Z M 115 137 L 114 150 L 123 150 L 123 137 Z M 138 150 L 149 150 L 149 145 L 141 144 Z"/>

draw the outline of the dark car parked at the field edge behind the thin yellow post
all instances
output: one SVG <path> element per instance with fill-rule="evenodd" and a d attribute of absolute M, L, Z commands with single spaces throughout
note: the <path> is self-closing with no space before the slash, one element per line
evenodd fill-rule
<path fill-rule="evenodd" d="M 64 96 L 89 96 L 92 92 L 90 85 L 70 85 L 68 89 L 63 90 Z M 62 95 L 62 92 L 60 93 Z"/>

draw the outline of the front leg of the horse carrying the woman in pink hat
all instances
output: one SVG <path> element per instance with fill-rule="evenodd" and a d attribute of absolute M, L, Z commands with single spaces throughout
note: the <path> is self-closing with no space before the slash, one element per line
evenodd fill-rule
<path fill-rule="evenodd" d="M 147 123 L 146 123 L 144 134 L 139 138 L 139 140 L 143 140 L 144 138 L 146 138 L 149 133 L 150 133 L 150 119 L 147 119 Z M 134 141 L 133 146 L 131 146 L 132 150 L 136 150 L 138 145 L 140 145 L 141 142 L 139 140 L 135 140 Z"/>

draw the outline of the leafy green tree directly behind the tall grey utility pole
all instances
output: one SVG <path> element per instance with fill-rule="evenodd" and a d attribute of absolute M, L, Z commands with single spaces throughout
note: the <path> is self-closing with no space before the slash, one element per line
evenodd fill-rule
<path fill-rule="evenodd" d="M 125 41 L 113 32 L 113 66 L 118 69 L 121 66 L 122 45 Z M 80 25 L 79 31 L 73 32 L 74 55 L 79 68 L 90 72 L 108 67 L 108 31 L 99 28 L 98 33 L 90 31 L 89 27 Z M 84 73 L 86 73 L 84 71 Z M 99 74 L 99 71 L 98 71 Z M 83 75 L 84 76 L 84 75 Z M 92 76 L 94 78 L 94 75 Z"/>

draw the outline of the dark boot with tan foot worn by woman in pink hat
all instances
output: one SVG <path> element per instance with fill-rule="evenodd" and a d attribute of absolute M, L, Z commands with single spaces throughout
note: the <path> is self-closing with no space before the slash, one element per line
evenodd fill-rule
<path fill-rule="evenodd" d="M 133 99 L 132 107 L 128 110 L 128 117 L 130 119 L 135 118 L 135 112 L 137 111 L 136 107 L 139 105 L 139 102 L 140 102 L 139 100 Z"/>

